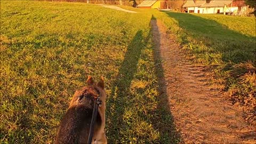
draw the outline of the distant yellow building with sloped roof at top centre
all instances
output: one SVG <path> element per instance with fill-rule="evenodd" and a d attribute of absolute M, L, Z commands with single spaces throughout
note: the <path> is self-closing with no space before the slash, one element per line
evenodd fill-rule
<path fill-rule="evenodd" d="M 139 8 L 143 9 L 167 9 L 166 1 L 143 1 L 138 5 Z"/>

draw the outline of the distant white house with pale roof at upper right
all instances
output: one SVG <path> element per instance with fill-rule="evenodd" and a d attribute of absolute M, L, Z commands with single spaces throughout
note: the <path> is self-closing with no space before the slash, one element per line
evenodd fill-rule
<path fill-rule="evenodd" d="M 188 13 L 227 13 L 241 9 L 237 2 L 230 0 L 188 0 L 183 7 Z"/>

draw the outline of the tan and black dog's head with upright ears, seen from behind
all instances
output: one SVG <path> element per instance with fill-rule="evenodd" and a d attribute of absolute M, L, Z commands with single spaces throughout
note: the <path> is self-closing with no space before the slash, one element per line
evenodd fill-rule
<path fill-rule="evenodd" d="M 93 78 L 89 76 L 87 78 L 87 86 L 82 87 L 82 89 L 77 90 L 70 102 L 69 108 L 72 106 L 81 105 L 86 102 L 86 99 L 96 99 L 100 97 L 102 104 L 105 105 L 106 101 L 106 91 L 104 86 L 103 77 L 101 77 L 98 83 L 94 83 Z"/>

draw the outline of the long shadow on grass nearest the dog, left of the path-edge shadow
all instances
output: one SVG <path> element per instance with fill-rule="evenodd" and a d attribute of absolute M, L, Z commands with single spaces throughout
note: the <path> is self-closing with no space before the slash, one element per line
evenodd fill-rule
<path fill-rule="evenodd" d="M 139 30 L 133 37 L 131 43 L 127 47 L 124 60 L 119 68 L 119 73 L 111 88 L 111 94 L 107 101 L 107 139 L 108 143 L 129 142 L 127 129 L 130 125 L 125 123 L 123 115 L 125 109 L 132 106 L 132 94 L 130 93 L 130 85 L 135 73 L 137 73 L 137 65 L 141 55 L 141 51 L 145 44 L 143 43 L 143 31 Z M 146 38 L 148 41 L 148 37 Z"/>

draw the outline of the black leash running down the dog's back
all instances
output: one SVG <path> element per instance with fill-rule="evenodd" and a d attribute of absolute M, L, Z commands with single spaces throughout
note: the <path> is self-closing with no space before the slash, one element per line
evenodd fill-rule
<path fill-rule="evenodd" d="M 91 125 L 90 125 L 90 132 L 89 132 L 89 137 L 88 137 L 88 144 L 92 143 L 92 137 L 93 137 L 93 130 L 94 130 L 94 123 L 96 121 L 97 118 L 97 114 L 98 114 L 98 108 L 101 107 L 101 100 L 100 97 L 98 97 L 95 101 L 94 101 L 94 106 L 93 106 L 93 111 L 92 111 L 92 121 L 91 121 Z"/>

